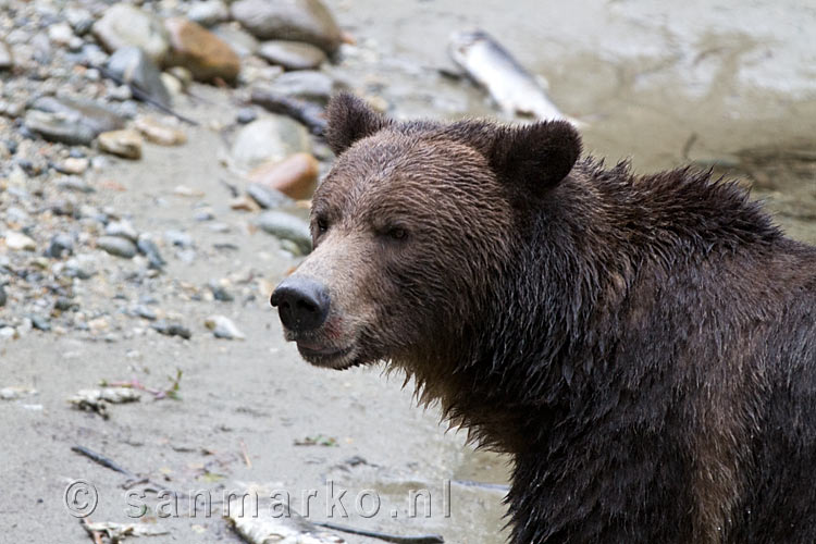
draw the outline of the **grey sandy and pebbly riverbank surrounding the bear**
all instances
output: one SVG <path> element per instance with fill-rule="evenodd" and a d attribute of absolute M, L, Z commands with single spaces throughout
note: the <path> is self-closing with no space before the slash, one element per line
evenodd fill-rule
<path fill-rule="evenodd" d="M 615 4 L 591 8 L 613 29 L 621 20 L 646 25 Z M 99 496 L 88 519 L 169 531 L 141 537 L 157 543 L 240 542 L 218 512 L 184 507 L 161 516 L 162 487 L 282 487 L 301 512 L 301 492 L 317 489 L 310 519 L 321 520 L 329 481 L 348 490 L 348 519 L 332 521 L 503 542 L 504 459 L 443 434 L 433 409 L 417 409 L 399 380 L 308 367 L 283 343 L 268 305 L 310 248 L 308 199 L 333 160 L 319 136 L 332 92 L 350 89 L 397 118 L 499 114 L 445 60 L 453 26 L 498 25 L 494 35 L 522 61 L 543 59 L 544 70 L 531 67 L 549 76 L 566 112 L 586 122 L 589 149 L 611 160 L 631 152 L 641 169 L 691 161 L 739 175 L 792 236 L 816 243 L 816 153 L 802 138 L 813 125 L 807 88 L 793 89 L 788 102 L 775 98 L 774 111 L 793 121 L 780 118 L 766 133 L 756 128 L 767 125 L 766 110 L 735 109 L 739 131 L 725 122 L 713 128 L 678 121 L 678 110 L 696 111 L 697 102 L 666 99 L 682 95 L 667 74 L 697 52 L 707 51 L 701 65 L 727 59 L 743 41 L 714 36 L 700 42 L 703 52 L 681 42 L 662 64 L 628 57 L 622 46 L 604 59 L 582 38 L 583 49 L 559 64 L 553 49 L 535 57 L 521 47 L 533 25 L 490 2 L 472 12 L 437 2 L 378 5 L 0 0 L 0 478 L 11 490 L 0 522 L 11 528 L 8 539 L 90 541 L 65 506 L 69 483 L 84 479 Z M 423 22 L 428 39 L 418 30 Z M 547 30 L 556 52 L 566 50 L 565 28 Z M 715 84 L 716 100 L 705 103 L 726 103 L 724 89 L 738 104 L 758 92 Z M 135 395 L 123 397 L 123 387 Z M 137 478 L 72 452 L 77 444 Z M 148 496 L 137 519 L 126 489 Z M 380 515 L 354 508 L 364 489 L 380 494 Z M 434 500 L 430 516 L 408 516 L 406 497 L 417 489 Z M 446 496 L 449 511 L 437 502 Z"/>

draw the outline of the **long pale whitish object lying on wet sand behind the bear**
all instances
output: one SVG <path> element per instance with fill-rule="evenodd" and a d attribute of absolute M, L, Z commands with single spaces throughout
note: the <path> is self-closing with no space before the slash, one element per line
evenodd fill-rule
<path fill-rule="evenodd" d="M 507 113 L 580 124 L 561 113 L 530 72 L 484 30 L 454 34 L 449 52 L 454 62 L 487 89 Z"/>

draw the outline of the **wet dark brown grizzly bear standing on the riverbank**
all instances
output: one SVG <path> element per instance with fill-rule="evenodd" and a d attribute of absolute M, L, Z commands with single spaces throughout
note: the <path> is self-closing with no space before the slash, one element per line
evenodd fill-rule
<path fill-rule="evenodd" d="M 515 544 L 816 542 L 816 248 L 735 183 L 581 158 L 566 122 L 327 119 L 286 338 L 387 361 L 511 454 Z"/>

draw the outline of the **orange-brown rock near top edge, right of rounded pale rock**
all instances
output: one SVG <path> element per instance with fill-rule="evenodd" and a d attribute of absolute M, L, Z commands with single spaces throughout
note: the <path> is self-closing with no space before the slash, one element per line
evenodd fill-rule
<path fill-rule="evenodd" d="M 240 59 L 232 47 L 203 26 L 183 17 L 164 21 L 170 37 L 169 65 L 181 65 L 202 82 L 221 78 L 234 82 Z"/>

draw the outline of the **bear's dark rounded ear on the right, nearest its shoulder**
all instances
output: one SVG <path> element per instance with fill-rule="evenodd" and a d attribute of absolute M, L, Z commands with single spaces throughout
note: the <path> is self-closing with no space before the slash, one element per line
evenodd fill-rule
<path fill-rule="evenodd" d="M 456 133 L 484 154 L 499 178 L 536 194 L 567 177 L 581 156 L 581 136 L 567 121 L 522 126 L 471 121 Z"/>

